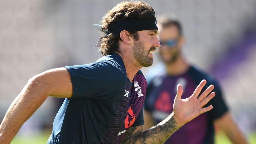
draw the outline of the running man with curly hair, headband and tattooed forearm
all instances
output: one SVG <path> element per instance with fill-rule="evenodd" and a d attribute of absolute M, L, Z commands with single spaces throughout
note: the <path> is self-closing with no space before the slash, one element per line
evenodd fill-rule
<path fill-rule="evenodd" d="M 105 33 L 99 41 L 103 57 L 32 77 L 4 117 L 1 144 L 10 143 L 48 96 L 65 98 L 48 144 L 163 143 L 186 122 L 213 108 L 203 108 L 215 95 L 210 93 L 213 85 L 199 95 L 203 80 L 184 100 L 178 85 L 170 116 L 143 131 L 147 83 L 140 69 L 152 65 L 152 54 L 160 47 L 155 11 L 142 1 L 122 2 L 107 12 L 98 29 Z"/>

